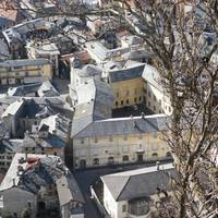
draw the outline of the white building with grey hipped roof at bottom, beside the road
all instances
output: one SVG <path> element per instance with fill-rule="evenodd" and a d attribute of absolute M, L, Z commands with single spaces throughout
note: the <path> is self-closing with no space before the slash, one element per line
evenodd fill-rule
<path fill-rule="evenodd" d="M 107 213 L 111 218 L 147 218 L 167 197 L 173 174 L 169 164 L 101 177 Z"/>

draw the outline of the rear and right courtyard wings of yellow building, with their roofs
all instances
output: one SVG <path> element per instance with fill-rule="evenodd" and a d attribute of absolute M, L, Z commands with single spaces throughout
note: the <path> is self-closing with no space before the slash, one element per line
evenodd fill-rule
<path fill-rule="evenodd" d="M 144 63 L 109 72 L 113 108 L 143 104 L 154 113 L 171 114 L 172 108 L 159 81 L 158 71 Z"/>

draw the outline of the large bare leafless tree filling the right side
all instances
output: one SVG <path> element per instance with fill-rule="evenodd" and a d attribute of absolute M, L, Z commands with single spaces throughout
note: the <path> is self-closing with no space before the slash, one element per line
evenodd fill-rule
<path fill-rule="evenodd" d="M 87 20 L 87 14 L 96 13 L 78 1 L 53 3 L 58 14 Z M 218 64 L 213 61 L 218 49 L 218 1 L 193 0 L 190 13 L 182 0 L 113 0 L 108 5 L 122 28 L 141 37 L 153 52 L 159 83 L 171 99 L 165 140 L 178 172 L 175 217 L 218 216 L 218 170 L 211 158 L 218 140 Z"/>

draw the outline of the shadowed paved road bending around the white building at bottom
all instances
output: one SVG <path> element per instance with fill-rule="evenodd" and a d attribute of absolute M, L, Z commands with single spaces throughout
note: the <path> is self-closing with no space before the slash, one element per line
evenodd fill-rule
<path fill-rule="evenodd" d="M 171 162 L 171 160 L 165 160 L 160 162 Z M 144 162 L 144 164 L 133 164 L 133 165 L 128 165 L 128 166 L 111 166 L 111 167 L 104 167 L 104 168 L 98 168 L 98 169 L 86 169 L 86 170 L 78 170 L 75 171 L 75 178 L 77 180 L 77 183 L 81 187 L 81 191 L 84 195 L 84 198 L 86 201 L 86 218 L 101 218 L 99 215 L 99 211 L 93 202 L 90 199 L 90 192 L 89 192 L 89 186 L 95 183 L 95 181 L 104 175 L 104 174 L 109 174 L 109 173 L 114 173 L 119 171 L 125 171 L 125 170 L 134 170 L 143 167 L 149 167 L 156 165 L 156 161 L 152 162 Z"/>

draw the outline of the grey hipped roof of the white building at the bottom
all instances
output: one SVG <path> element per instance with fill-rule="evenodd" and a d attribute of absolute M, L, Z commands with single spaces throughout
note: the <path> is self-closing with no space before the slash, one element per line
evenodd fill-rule
<path fill-rule="evenodd" d="M 113 198 L 119 202 L 150 196 L 156 193 L 157 187 L 168 191 L 170 190 L 169 180 L 173 177 L 175 177 L 175 172 L 170 164 L 160 166 L 160 170 L 157 170 L 155 166 L 104 175 L 101 180 Z"/>

